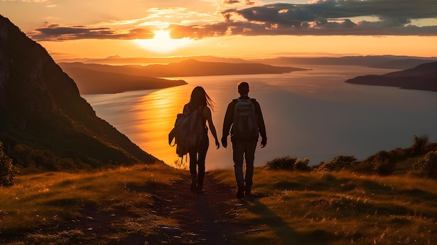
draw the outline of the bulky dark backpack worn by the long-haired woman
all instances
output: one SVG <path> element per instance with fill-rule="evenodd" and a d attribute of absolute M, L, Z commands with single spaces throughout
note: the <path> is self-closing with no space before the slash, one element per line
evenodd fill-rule
<path fill-rule="evenodd" d="M 177 114 L 175 127 L 168 134 L 168 144 L 171 145 L 173 138 L 175 138 L 176 154 L 179 157 L 188 154 L 188 149 L 198 147 L 205 136 L 202 109 L 203 107 L 198 107 L 196 110 L 186 110 Z"/>

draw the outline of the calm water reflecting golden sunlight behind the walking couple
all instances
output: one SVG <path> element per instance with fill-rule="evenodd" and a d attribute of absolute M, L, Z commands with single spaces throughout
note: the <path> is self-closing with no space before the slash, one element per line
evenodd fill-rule
<path fill-rule="evenodd" d="M 302 67 L 302 66 L 299 66 Z M 339 154 L 359 160 L 380 150 L 409 147 L 414 135 L 437 141 L 437 93 L 394 87 L 346 84 L 357 75 L 392 70 L 355 66 L 311 66 L 309 71 L 281 75 L 177 77 L 187 85 L 169 89 L 83 96 L 101 117 L 135 144 L 172 165 L 178 161 L 168 132 L 195 86 L 216 102 L 213 121 L 221 138 L 223 117 L 237 82 L 251 85 L 249 96 L 261 105 L 267 147 L 256 150 L 255 165 L 276 157 L 309 158 L 310 164 Z M 232 149 L 215 149 L 209 133 L 207 170 L 232 168 Z M 179 158 L 180 161 L 180 158 Z"/>

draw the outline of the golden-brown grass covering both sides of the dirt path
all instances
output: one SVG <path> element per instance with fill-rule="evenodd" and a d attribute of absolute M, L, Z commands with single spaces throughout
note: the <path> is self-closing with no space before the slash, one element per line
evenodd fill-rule
<path fill-rule="evenodd" d="M 154 190 L 186 176 L 162 164 L 19 176 L 0 188 L 0 243 L 120 244 L 141 235 L 158 244 L 163 225 L 179 221 L 159 213 Z M 235 186 L 233 170 L 209 176 Z M 253 179 L 258 197 L 232 200 L 236 222 L 247 228 L 235 244 L 437 243 L 435 180 L 267 168 L 255 168 Z M 80 228 L 69 229 L 71 222 Z"/>

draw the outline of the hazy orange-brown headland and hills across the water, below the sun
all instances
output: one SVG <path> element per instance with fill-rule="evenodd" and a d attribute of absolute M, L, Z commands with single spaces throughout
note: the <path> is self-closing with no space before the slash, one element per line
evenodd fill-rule
<path fill-rule="evenodd" d="M 183 80 L 167 80 L 155 77 L 276 74 L 305 70 L 256 63 L 205 62 L 195 59 L 186 59 L 174 64 L 151 64 L 148 66 L 110 66 L 81 62 L 59 63 L 59 66 L 75 80 L 80 94 L 162 89 L 186 84 Z"/>

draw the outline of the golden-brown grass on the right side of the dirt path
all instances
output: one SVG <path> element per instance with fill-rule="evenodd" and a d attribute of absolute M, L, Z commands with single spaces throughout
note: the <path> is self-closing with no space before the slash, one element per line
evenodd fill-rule
<path fill-rule="evenodd" d="M 214 171 L 234 184 L 232 170 Z M 239 244 L 436 244 L 436 181 L 256 168 Z"/>

